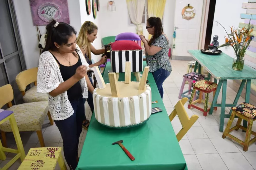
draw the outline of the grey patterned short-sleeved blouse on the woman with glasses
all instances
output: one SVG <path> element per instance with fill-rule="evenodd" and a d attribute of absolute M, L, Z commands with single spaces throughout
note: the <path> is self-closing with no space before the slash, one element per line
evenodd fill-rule
<path fill-rule="evenodd" d="M 153 56 L 146 53 L 146 62 L 149 66 L 149 72 L 157 71 L 159 68 L 172 71 L 172 66 L 168 57 L 169 43 L 164 34 L 156 38 L 151 46 L 162 47 L 162 49 Z"/>

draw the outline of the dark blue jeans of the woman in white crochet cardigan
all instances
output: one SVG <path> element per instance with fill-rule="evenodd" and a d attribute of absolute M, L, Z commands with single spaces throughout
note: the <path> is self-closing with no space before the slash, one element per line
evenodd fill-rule
<path fill-rule="evenodd" d="M 63 139 L 63 151 L 69 168 L 77 167 L 79 137 L 82 132 L 84 102 L 83 98 L 70 101 L 74 113 L 67 119 L 56 121 L 61 137 Z"/>

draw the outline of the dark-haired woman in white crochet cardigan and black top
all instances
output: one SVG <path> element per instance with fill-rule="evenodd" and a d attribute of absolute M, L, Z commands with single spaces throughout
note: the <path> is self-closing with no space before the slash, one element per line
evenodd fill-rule
<path fill-rule="evenodd" d="M 94 88 L 74 28 L 52 21 L 46 26 L 46 34 L 39 58 L 37 92 L 48 94 L 49 111 L 63 139 L 65 159 L 70 169 L 75 169 L 85 114 L 83 98 L 88 98 L 88 90 L 92 93 Z"/>

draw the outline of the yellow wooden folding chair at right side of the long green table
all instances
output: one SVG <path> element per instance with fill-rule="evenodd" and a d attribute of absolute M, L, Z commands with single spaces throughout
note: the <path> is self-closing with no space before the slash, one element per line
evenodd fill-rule
<path fill-rule="evenodd" d="M 176 135 L 178 142 L 183 138 L 183 136 L 187 133 L 187 131 L 193 126 L 193 124 L 197 121 L 198 116 L 193 115 L 190 118 L 184 108 L 184 104 L 188 101 L 188 98 L 184 97 L 178 101 L 178 103 L 174 106 L 174 110 L 169 116 L 170 121 L 174 119 L 174 117 L 178 114 L 179 120 L 181 121 L 182 129 Z"/>

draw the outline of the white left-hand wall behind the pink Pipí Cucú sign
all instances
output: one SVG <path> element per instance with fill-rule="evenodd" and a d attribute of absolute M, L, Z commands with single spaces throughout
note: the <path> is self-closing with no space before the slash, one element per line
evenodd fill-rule
<path fill-rule="evenodd" d="M 21 43 L 24 52 L 25 62 L 27 69 L 38 67 L 39 61 L 39 48 L 38 48 L 38 39 L 37 39 L 37 31 L 36 27 L 33 25 L 31 9 L 29 0 L 13 0 L 15 6 L 15 12 L 18 20 L 18 27 L 21 36 Z M 102 5 L 102 4 L 100 4 Z M 96 19 L 93 18 L 93 14 L 88 16 L 86 13 L 85 1 L 84 0 L 68 0 L 68 11 L 69 11 L 69 20 L 70 25 L 75 28 L 78 32 L 82 26 L 84 21 L 92 21 L 99 26 L 99 18 L 102 13 L 101 10 L 97 12 Z M 45 26 L 39 27 L 41 34 L 45 33 Z M 101 47 L 101 35 L 100 29 L 97 35 L 97 40 L 93 42 L 93 46 L 95 48 Z M 92 58 L 95 60 L 96 57 L 93 55 Z"/>

